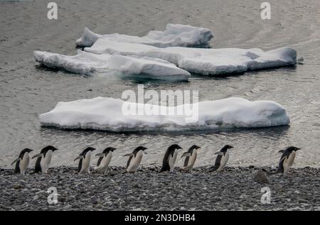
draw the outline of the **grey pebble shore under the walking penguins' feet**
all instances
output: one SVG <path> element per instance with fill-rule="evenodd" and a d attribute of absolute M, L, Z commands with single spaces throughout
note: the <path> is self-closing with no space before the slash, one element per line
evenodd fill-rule
<path fill-rule="evenodd" d="M 25 176 L 0 169 L 0 210 L 320 210 L 319 168 L 254 179 L 260 169 L 131 174 L 112 167 L 105 175 L 78 175 L 76 168 L 58 167 Z M 57 204 L 48 204 L 49 187 L 57 189 Z M 261 202 L 262 187 L 270 188 L 270 204 Z"/>

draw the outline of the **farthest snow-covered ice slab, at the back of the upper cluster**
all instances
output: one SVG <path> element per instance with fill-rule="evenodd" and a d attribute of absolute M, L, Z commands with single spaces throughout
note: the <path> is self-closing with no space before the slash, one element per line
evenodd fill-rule
<path fill-rule="evenodd" d="M 122 43 L 142 43 L 159 48 L 166 48 L 169 46 L 208 47 L 210 45 L 209 41 L 213 38 L 213 34 L 207 28 L 171 23 L 166 25 L 165 31 L 149 31 L 148 35 L 143 37 L 118 33 L 100 35 L 85 28 L 82 37 L 75 42 L 75 45 L 78 47 L 90 47 L 99 38 Z"/>

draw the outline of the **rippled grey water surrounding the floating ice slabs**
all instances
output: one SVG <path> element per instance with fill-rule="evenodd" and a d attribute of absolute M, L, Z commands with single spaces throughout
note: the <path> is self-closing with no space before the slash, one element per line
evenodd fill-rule
<path fill-rule="evenodd" d="M 171 143 L 202 147 L 196 165 L 213 163 L 213 153 L 225 144 L 235 146 L 230 165 L 276 165 L 278 150 L 298 146 L 295 166 L 320 166 L 320 2 L 270 1 L 272 19 L 260 18 L 257 1 L 121 0 L 56 1 L 58 20 L 46 17 L 43 1 L 0 1 L 0 167 L 23 148 L 37 152 L 50 144 L 59 148 L 53 165 L 76 165 L 73 159 L 87 146 L 117 147 L 111 165 L 124 165 L 124 153 L 139 145 L 149 148 L 143 165 L 159 165 Z M 166 23 L 203 26 L 213 31 L 213 48 L 289 46 L 304 64 L 228 77 L 193 75 L 190 82 L 146 81 L 144 89 L 199 90 L 200 100 L 244 97 L 282 104 L 291 124 L 274 128 L 180 133 L 108 133 L 43 128 L 38 115 L 58 101 L 82 98 L 120 98 L 141 81 L 110 75 L 74 75 L 47 70 L 33 60 L 33 50 L 73 55 L 74 42 L 85 26 L 96 33 L 145 35 L 163 30 Z M 88 91 L 92 89 L 92 91 Z M 93 160 L 92 163 L 95 163 Z M 181 159 L 178 160 L 181 165 Z"/>

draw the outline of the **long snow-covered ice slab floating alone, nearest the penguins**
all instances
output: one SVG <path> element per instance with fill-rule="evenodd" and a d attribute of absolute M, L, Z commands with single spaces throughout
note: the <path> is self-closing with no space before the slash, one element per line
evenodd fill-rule
<path fill-rule="evenodd" d="M 125 104 L 124 104 L 125 103 Z M 198 120 L 188 123 L 186 114 L 129 115 L 122 107 L 138 110 L 154 106 L 156 111 L 166 106 L 136 104 L 97 97 L 59 102 L 52 111 L 40 115 L 42 126 L 82 128 L 104 131 L 191 131 L 218 128 L 257 128 L 289 124 L 286 110 L 274 101 L 248 101 L 238 97 L 198 103 Z M 174 107 L 196 107 L 195 104 Z M 192 108 L 191 108 L 192 109 Z M 196 109 L 196 108 L 193 108 Z"/>

